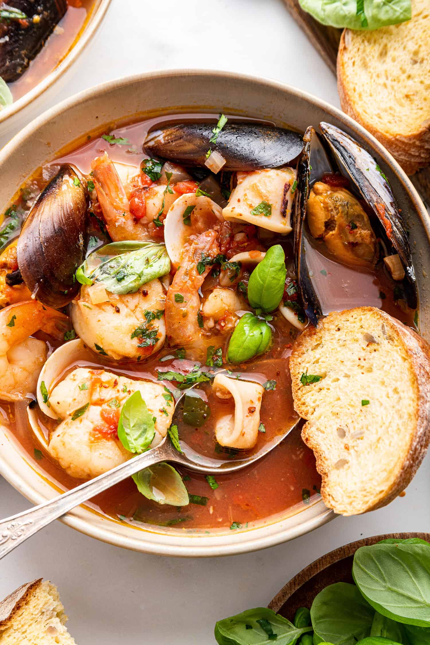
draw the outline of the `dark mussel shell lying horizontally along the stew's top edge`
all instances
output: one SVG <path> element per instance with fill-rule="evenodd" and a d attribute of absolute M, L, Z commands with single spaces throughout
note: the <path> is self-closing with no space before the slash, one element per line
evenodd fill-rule
<path fill-rule="evenodd" d="M 303 150 L 300 134 L 259 123 L 227 123 L 215 144 L 210 143 L 213 123 L 166 125 L 148 134 L 146 154 L 183 164 L 204 167 L 209 148 L 226 164 L 222 170 L 277 168 L 290 163 Z"/>

